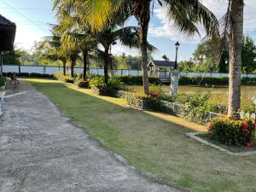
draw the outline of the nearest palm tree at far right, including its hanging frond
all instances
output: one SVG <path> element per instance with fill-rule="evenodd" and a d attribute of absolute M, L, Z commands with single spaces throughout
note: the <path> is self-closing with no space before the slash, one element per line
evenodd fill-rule
<path fill-rule="evenodd" d="M 241 107 L 241 48 L 243 35 L 243 0 L 229 0 L 227 13 L 220 20 L 218 38 L 221 49 L 229 50 L 230 83 L 229 108 L 230 118 L 238 119 L 237 111 Z"/>

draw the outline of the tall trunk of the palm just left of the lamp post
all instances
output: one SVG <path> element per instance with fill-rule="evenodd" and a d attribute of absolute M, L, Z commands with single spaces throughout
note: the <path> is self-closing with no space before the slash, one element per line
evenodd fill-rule
<path fill-rule="evenodd" d="M 144 93 L 148 95 L 148 24 L 150 20 L 150 0 L 143 3 L 140 15 L 140 43 L 143 57 L 143 88 Z"/>

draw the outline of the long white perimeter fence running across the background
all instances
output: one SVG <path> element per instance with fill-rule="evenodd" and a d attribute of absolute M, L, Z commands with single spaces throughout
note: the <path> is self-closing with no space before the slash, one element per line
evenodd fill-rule
<path fill-rule="evenodd" d="M 67 71 L 70 68 L 67 67 Z M 75 67 L 76 73 L 83 73 L 83 68 Z M 42 73 L 42 74 L 53 74 L 55 72 L 62 71 L 62 67 L 49 67 L 49 66 L 18 66 L 18 65 L 3 65 L 3 73 L 15 72 L 15 73 Z M 102 68 L 91 68 L 91 74 L 103 74 L 104 70 Z M 117 75 L 142 75 L 143 72 L 139 70 L 129 70 L 129 69 L 120 69 L 116 70 L 115 74 Z M 180 76 L 201 76 L 201 77 L 229 77 L 228 73 L 200 73 L 200 72 L 180 72 Z M 160 77 L 162 80 L 170 79 L 170 72 L 156 72 L 150 73 L 148 75 L 154 75 Z M 241 77 L 247 78 L 256 78 L 256 74 L 242 74 Z"/>

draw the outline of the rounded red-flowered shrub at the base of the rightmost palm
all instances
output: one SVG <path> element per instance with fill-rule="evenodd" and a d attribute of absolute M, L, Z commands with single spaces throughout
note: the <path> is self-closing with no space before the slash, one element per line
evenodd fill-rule
<path fill-rule="evenodd" d="M 207 136 L 225 145 L 253 146 L 256 124 L 251 120 L 233 120 L 228 117 L 212 119 L 208 125 Z"/>

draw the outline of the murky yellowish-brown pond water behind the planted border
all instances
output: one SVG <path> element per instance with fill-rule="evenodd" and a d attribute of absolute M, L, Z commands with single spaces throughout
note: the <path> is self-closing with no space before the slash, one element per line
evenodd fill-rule
<path fill-rule="evenodd" d="M 129 86 L 132 90 L 137 91 L 138 94 L 143 94 L 143 86 Z M 162 86 L 164 93 L 169 94 L 170 85 Z M 195 85 L 179 85 L 179 93 L 195 94 L 195 93 L 207 93 L 210 91 L 211 100 L 218 103 L 227 103 L 228 101 L 228 90 L 227 86 L 218 87 L 201 87 Z M 241 86 L 241 101 L 252 102 L 256 98 L 256 86 Z"/>

